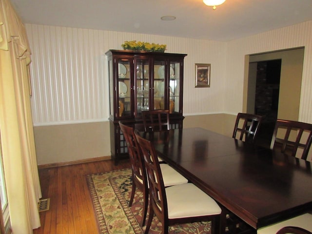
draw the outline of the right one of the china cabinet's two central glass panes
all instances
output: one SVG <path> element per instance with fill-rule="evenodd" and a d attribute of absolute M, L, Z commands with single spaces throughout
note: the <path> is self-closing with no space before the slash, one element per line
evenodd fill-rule
<path fill-rule="evenodd" d="M 154 110 L 166 109 L 165 61 L 154 61 Z"/>

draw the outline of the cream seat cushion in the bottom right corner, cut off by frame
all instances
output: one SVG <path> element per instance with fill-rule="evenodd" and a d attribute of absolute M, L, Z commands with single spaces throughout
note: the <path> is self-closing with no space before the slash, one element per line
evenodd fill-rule
<path fill-rule="evenodd" d="M 299 215 L 291 219 L 287 219 L 279 223 L 274 223 L 272 225 L 259 228 L 257 230 L 257 234 L 275 234 L 281 228 L 286 227 L 286 226 L 299 227 L 299 228 L 303 228 L 312 232 L 312 215 L 309 213 L 306 213 L 306 214 Z"/>

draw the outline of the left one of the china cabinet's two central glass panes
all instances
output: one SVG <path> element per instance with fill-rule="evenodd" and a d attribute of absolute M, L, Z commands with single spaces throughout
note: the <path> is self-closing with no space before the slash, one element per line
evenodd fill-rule
<path fill-rule="evenodd" d="M 150 71 L 149 60 L 136 59 L 136 80 L 137 80 L 137 115 L 142 111 L 150 109 Z"/>

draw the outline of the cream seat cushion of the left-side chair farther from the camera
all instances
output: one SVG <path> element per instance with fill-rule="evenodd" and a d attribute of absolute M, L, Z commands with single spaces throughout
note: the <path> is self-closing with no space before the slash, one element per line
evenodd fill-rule
<path fill-rule="evenodd" d="M 161 163 L 159 165 L 165 187 L 188 182 L 187 178 L 182 176 L 168 164 Z"/>

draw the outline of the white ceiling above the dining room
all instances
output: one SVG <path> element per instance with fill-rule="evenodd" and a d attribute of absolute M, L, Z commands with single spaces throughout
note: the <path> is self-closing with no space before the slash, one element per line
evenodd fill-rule
<path fill-rule="evenodd" d="M 312 20 L 312 0 L 11 0 L 24 23 L 228 41 Z M 162 16 L 176 20 L 160 20 Z"/>

